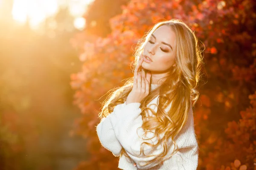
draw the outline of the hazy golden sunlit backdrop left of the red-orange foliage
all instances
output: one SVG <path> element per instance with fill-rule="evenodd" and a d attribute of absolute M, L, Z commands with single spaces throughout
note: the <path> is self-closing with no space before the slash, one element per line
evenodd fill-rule
<path fill-rule="evenodd" d="M 70 38 L 90 1 L 0 0 L 0 169 L 70 170 L 87 157 L 70 137 L 79 116 Z"/>

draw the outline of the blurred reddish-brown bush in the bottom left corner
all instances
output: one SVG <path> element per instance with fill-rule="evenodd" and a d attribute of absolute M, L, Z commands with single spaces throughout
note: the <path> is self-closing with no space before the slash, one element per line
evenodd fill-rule
<path fill-rule="evenodd" d="M 1 110 L 0 169 L 20 170 L 24 166 L 26 146 L 33 146 L 37 141 L 37 133 L 31 117 L 13 109 Z"/>

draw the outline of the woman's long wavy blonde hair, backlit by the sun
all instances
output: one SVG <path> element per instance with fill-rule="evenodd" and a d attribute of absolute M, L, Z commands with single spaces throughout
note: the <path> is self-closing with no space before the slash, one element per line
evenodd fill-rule
<path fill-rule="evenodd" d="M 156 156 L 155 159 L 147 162 L 145 165 L 150 164 L 156 159 L 164 161 L 163 158 L 167 154 L 167 141 L 172 139 L 176 150 L 172 152 L 169 157 L 177 153 L 178 146 L 175 142 L 175 136 L 180 132 L 185 125 L 188 118 L 189 108 L 192 103 L 194 106 L 198 99 L 199 92 L 197 90 L 198 82 L 201 77 L 201 65 L 203 63 L 202 52 L 198 45 L 198 39 L 195 36 L 194 31 L 189 28 L 182 20 L 172 19 L 168 21 L 161 21 L 155 24 L 148 32 L 138 41 L 135 49 L 135 62 L 134 68 L 139 62 L 139 56 L 143 53 L 145 44 L 149 40 L 150 36 L 160 26 L 169 26 L 172 31 L 175 32 L 176 44 L 175 44 L 175 67 L 170 68 L 167 77 L 163 77 L 163 83 L 151 91 L 142 101 L 140 108 L 142 110 L 141 115 L 143 118 L 143 124 L 141 128 L 145 131 L 154 132 L 154 136 L 157 137 L 157 144 L 151 144 L 143 142 L 140 147 L 143 150 L 143 145 L 147 144 L 151 147 L 157 147 L 157 145 L 163 145 L 163 153 Z M 133 70 L 134 72 L 134 70 Z M 102 102 L 102 111 L 99 113 L 100 119 L 108 116 L 113 112 L 116 105 L 122 104 L 126 101 L 128 94 L 133 87 L 134 77 L 127 79 L 122 87 L 112 89 L 107 99 Z M 157 113 L 151 108 L 147 107 L 152 99 L 159 95 L 159 104 L 157 106 Z M 171 104 L 169 111 L 165 109 Z M 150 110 L 155 116 L 148 116 L 146 118 L 146 112 Z M 164 137 L 160 139 L 160 134 L 164 134 Z M 150 139 L 148 139 L 150 140 Z M 124 148 L 122 148 L 121 155 L 124 154 L 129 157 Z M 143 152 L 143 155 L 146 156 Z M 169 159 L 167 157 L 166 159 Z"/>

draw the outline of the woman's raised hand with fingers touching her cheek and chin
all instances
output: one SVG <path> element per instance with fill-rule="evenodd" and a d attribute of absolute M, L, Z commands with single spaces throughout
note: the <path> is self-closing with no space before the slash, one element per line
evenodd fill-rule
<path fill-rule="evenodd" d="M 145 71 L 141 70 L 143 62 L 142 55 L 140 55 L 140 62 L 134 70 L 134 85 L 130 94 L 127 96 L 126 105 L 129 103 L 139 103 L 149 94 L 151 72 L 148 71 L 147 75 L 145 75 Z"/>

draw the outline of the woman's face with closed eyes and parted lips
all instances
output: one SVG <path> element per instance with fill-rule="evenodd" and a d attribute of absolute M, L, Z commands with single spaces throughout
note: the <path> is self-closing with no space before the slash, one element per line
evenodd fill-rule
<path fill-rule="evenodd" d="M 151 73 L 165 73 L 175 66 L 175 33 L 169 26 L 160 26 L 146 43 L 143 54 L 151 57 L 151 62 L 145 59 L 142 67 Z"/>

